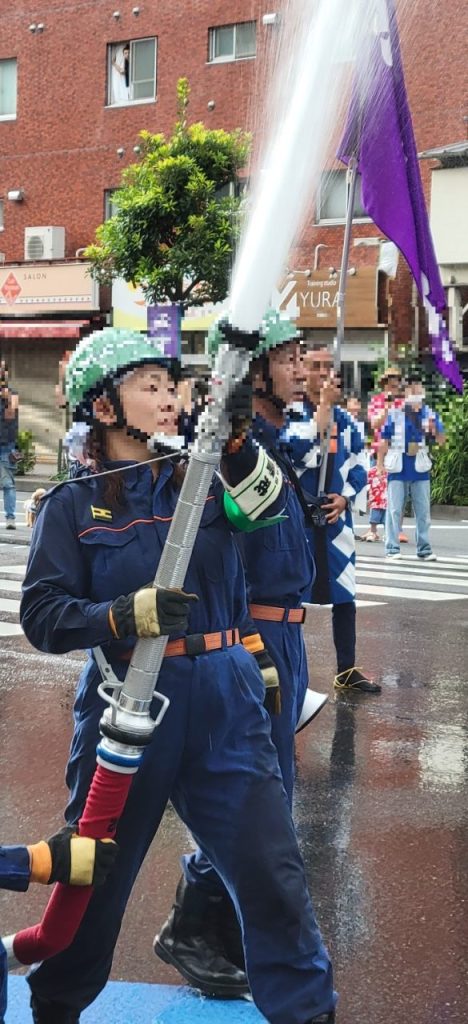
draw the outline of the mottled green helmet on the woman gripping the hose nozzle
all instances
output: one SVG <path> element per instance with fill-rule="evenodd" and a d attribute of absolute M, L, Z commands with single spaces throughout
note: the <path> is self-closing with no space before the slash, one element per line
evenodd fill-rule
<path fill-rule="evenodd" d="M 72 412 L 86 407 L 86 398 L 99 389 L 108 377 L 141 362 L 170 366 L 163 342 L 151 342 L 138 331 L 104 328 L 83 338 L 71 355 L 65 373 L 65 392 Z"/>

